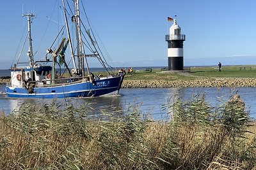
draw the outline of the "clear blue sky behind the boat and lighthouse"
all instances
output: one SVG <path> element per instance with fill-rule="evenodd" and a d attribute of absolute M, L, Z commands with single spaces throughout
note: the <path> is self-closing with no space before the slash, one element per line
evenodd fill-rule
<path fill-rule="evenodd" d="M 256 65 L 255 0 L 82 1 L 115 67 L 167 66 L 165 35 L 173 24 L 167 17 L 175 15 L 182 34 L 186 34 L 184 66 L 217 66 L 218 62 L 224 66 Z M 36 14 L 33 49 L 35 59 L 41 59 L 63 23 L 56 12 L 61 1 L 8 0 L 0 6 L 0 69 L 10 68 L 22 47 L 27 25 L 22 8 L 24 13 Z M 26 53 L 21 57 L 28 59 Z"/>

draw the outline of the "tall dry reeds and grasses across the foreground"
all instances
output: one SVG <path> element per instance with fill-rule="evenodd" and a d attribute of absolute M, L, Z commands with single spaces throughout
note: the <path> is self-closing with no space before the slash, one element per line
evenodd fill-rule
<path fill-rule="evenodd" d="M 0 169 L 255 169 L 256 128 L 239 97 L 163 106 L 170 121 L 89 106 L 22 104 L 1 115 Z M 252 131 L 252 133 L 248 132 Z"/>

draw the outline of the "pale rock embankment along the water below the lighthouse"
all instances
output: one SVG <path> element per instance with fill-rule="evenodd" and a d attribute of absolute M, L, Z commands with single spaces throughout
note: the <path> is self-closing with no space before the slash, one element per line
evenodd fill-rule
<path fill-rule="evenodd" d="M 228 78 L 216 80 L 124 80 L 122 88 L 161 88 L 161 87 L 256 87 L 255 78 Z"/>

